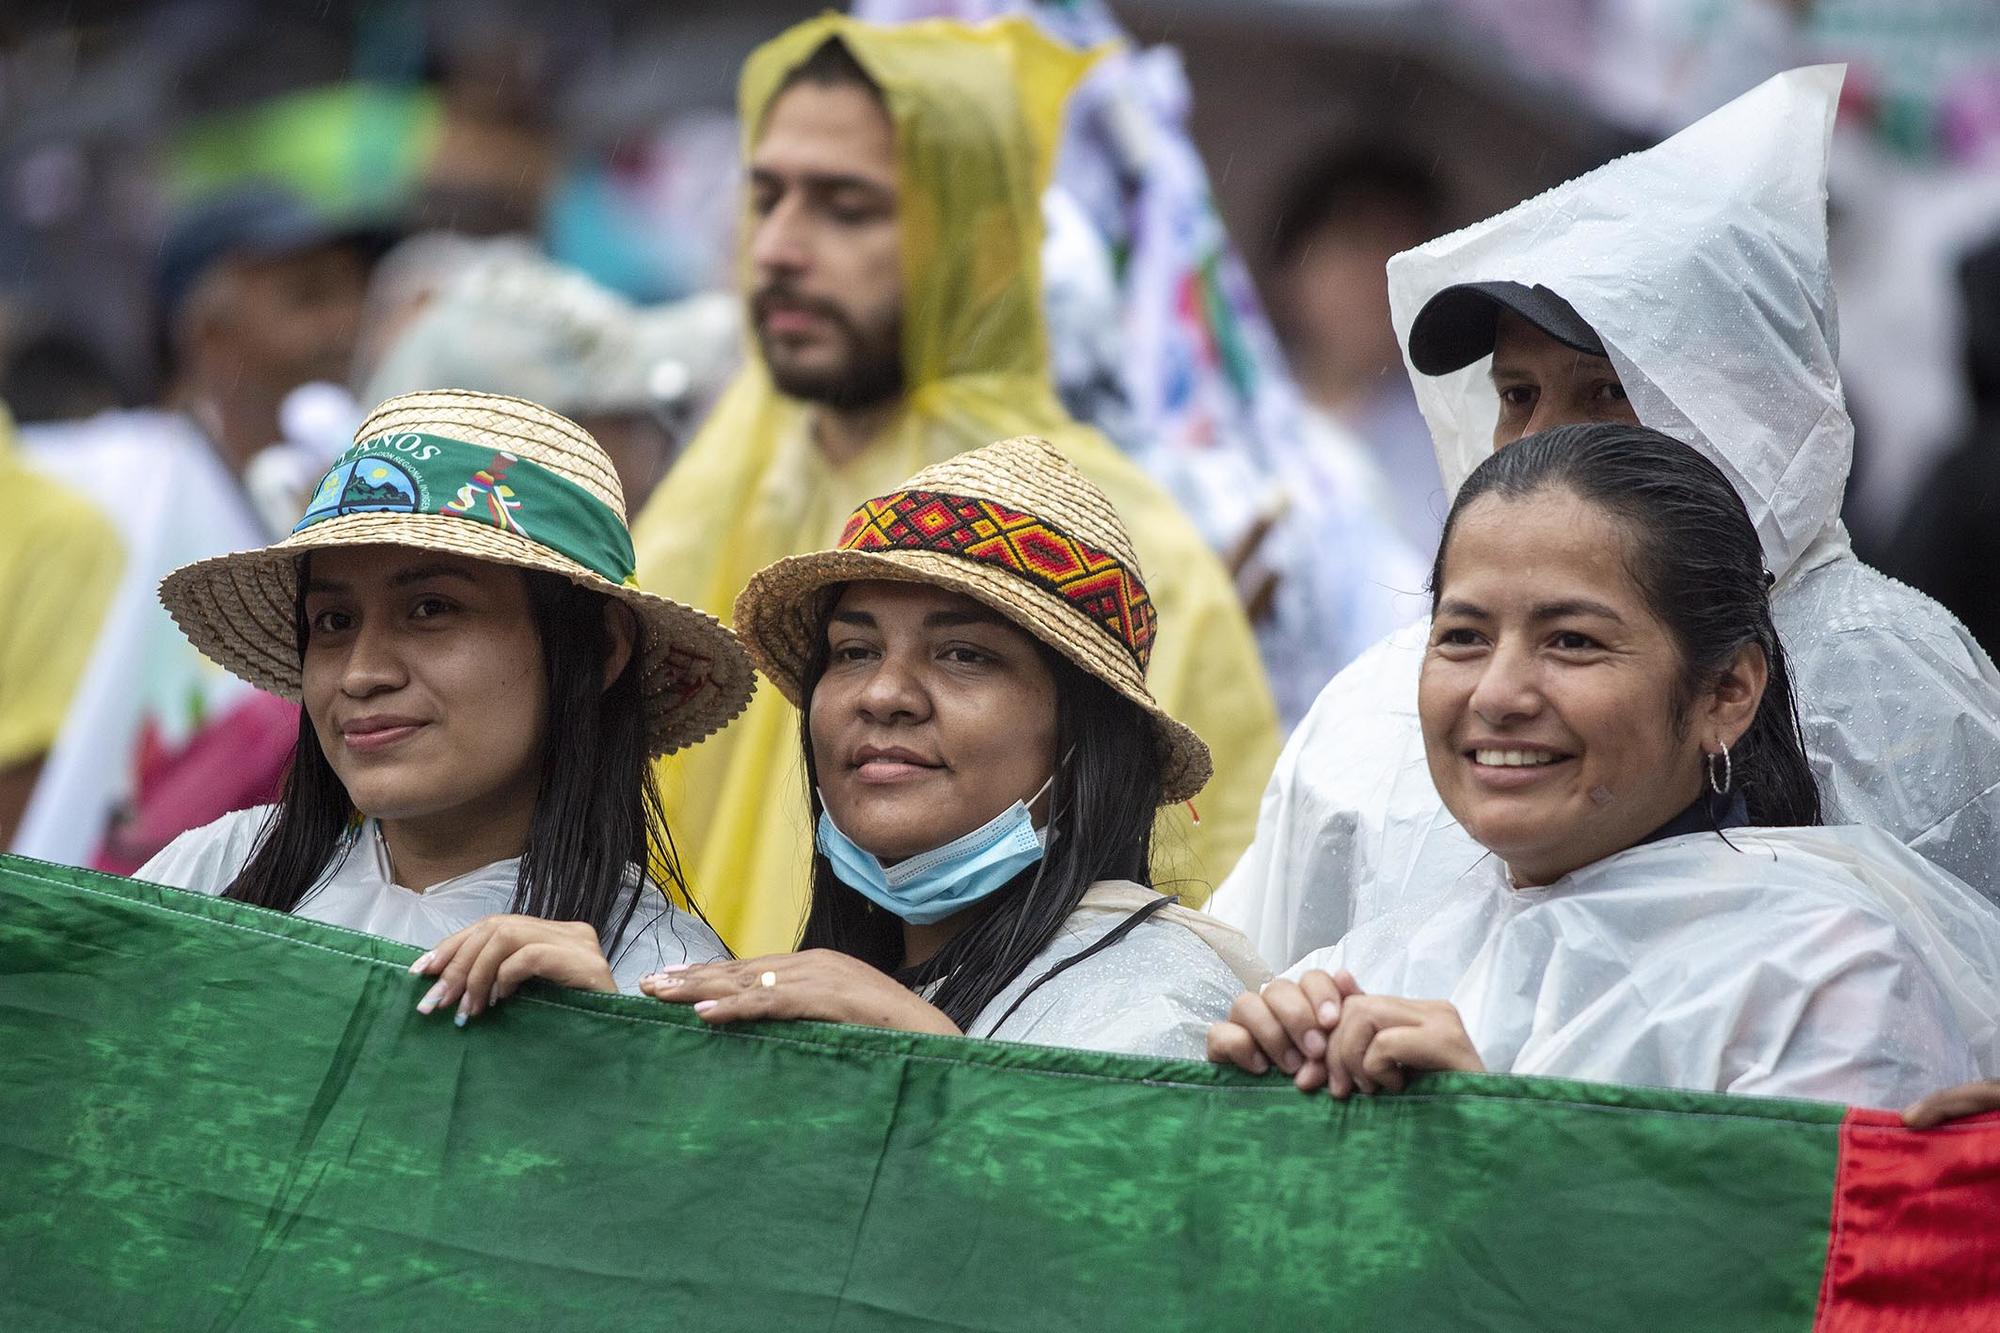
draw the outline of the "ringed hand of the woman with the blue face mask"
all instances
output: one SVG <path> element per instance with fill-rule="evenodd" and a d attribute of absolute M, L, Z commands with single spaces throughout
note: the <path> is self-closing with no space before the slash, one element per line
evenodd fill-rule
<path fill-rule="evenodd" d="M 662 969 L 640 991 L 672 1005 L 694 1005 L 704 1023 L 818 1019 L 958 1037 L 958 1025 L 914 991 L 832 949 L 774 953 L 730 963 Z"/>

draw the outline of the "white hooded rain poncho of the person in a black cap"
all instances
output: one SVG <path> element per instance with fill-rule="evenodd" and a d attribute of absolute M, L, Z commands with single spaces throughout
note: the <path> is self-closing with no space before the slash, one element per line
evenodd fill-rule
<path fill-rule="evenodd" d="M 1390 304 L 1408 350 L 1420 312 L 1458 284 L 1566 302 L 1626 418 L 1700 448 L 1748 506 L 1828 823 L 1884 829 L 1996 897 L 2000 675 L 1936 602 L 1856 560 L 1838 518 L 1854 434 L 1826 260 L 1840 78 L 1780 74 L 1656 148 L 1398 254 Z M 1496 442 L 1490 358 L 1412 378 L 1456 490 Z M 1570 420 L 1590 416 L 1580 404 Z M 1336 677 L 1278 761 L 1256 841 L 1212 905 L 1268 959 L 1332 945 L 1482 857 L 1424 765 L 1426 630 Z"/>

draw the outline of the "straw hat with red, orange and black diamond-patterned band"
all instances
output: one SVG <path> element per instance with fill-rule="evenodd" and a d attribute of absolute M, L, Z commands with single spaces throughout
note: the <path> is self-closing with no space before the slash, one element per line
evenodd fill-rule
<path fill-rule="evenodd" d="M 1000 440 L 928 466 L 854 510 L 838 548 L 752 574 L 736 632 L 778 693 L 806 707 L 830 588 L 876 578 L 984 602 L 1144 709 L 1164 805 L 1188 801 L 1214 773 L 1202 739 L 1146 689 L 1158 616 L 1118 510 L 1046 440 Z"/>

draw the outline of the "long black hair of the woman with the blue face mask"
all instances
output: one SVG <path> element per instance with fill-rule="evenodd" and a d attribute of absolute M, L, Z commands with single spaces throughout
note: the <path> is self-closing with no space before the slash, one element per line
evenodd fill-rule
<path fill-rule="evenodd" d="M 830 604 L 830 602 L 828 602 Z M 826 634 L 814 634 L 800 709 L 806 797 L 820 819 L 812 761 L 812 691 L 826 673 Z M 1056 781 L 1048 853 L 966 911 L 978 919 L 934 957 L 904 967 L 902 919 L 878 909 L 812 851 L 812 901 L 800 949 L 834 949 L 910 989 L 936 985 L 932 1005 L 964 1031 L 1056 939 L 1084 891 L 1100 879 L 1152 885 L 1152 821 L 1160 809 L 1160 753 L 1152 721 L 1130 699 L 1036 640 L 1056 677 Z"/>

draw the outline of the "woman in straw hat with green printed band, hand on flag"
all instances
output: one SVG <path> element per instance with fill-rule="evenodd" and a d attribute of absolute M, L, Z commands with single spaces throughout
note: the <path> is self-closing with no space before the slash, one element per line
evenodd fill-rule
<path fill-rule="evenodd" d="M 390 398 L 290 536 L 182 566 L 160 600 L 304 711 L 282 801 L 138 879 L 426 949 L 418 1009 L 460 1023 L 528 977 L 630 991 L 728 957 L 686 909 L 650 761 L 736 717 L 750 660 L 638 590 L 616 472 L 574 422 Z"/>

